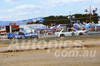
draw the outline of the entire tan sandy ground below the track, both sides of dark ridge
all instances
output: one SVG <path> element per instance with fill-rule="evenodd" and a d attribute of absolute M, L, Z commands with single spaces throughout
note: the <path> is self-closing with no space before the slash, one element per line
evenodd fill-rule
<path fill-rule="evenodd" d="M 33 41 L 34 39 L 25 39 L 25 41 Z M 70 44 L 70 49 L 67 49 L 65 46 L 63 46 L 61 49 L 57 48 L 59 46 L 56 46 L 56 49 L 50 49 L 47 48 L 44 50 L 43 48 L 40 48 L 41 50 L 32 50 L 24 48 L 24 49 L 14 49 L 11 48 L 7 52 L 1 52 L 0 53 L 0 66 L 100 66 L 100 35 L 87 35 L 87 36 L 75 36 L 75 37 L 64 37 L 64 38 L 58 38 L 58 37 L 43 37 L 39 38 L 38 41 L 45 40 L 46 42 L 49 42 L 50 40 L 57 40 L 58 42 L 60 40 L 81 40 L 82 41 L 82 47 L 78 47 L 79 49 L 75 49 L 73 44 Z M 18 40 L 19 44 L 23 40 Z M 1 51 L 7 50 L 7 47 L 11 43 L 11 40 L 0 40 L 0 49 Z M 15 45 L 15 44 L 14 44 Z M 31 44 L 30 44 L 31 45 Z M 43 45 L 43 44 L 41 44 Z M 61 47 L 61 46 L 60 46 Z M 86 47 L 86 48 L 84 48 Z M 50 48 L 50 47 L 49 47 Z M 53 47 L 54 48 L 54 47 Z M 3 49 L 3 50 L 2 50 Z M 13 50 L 13 52 L 11 51 Z M 26 50 L 26 51 L 25 51 Z M 79 53 L 83 53 L 83 51 L 96 51 L 96 55 L 94 57 L 63 57 L 62 51 L 70 51 L 70 50 L 78 50 Z M 48 52 L 49 51 L 49 52 Z M 57 55 L 60 55 L 59 57 L 55 56 L 55 52 L 59 51 Z M 65 53 L 64 53 L 65 54 Z"/>

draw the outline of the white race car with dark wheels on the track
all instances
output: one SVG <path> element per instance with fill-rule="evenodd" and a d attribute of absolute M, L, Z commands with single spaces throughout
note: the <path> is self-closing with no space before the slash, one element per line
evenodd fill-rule
<path fill-rule="evenodd" d="M 78 35 L 87 35 L 87 30 L 76 30 L 74 28 L 67 28 L 62 29 L 59 32 L 55 32 L 57 37 L 64 37 L 64 36 L 78 36 Z"/>

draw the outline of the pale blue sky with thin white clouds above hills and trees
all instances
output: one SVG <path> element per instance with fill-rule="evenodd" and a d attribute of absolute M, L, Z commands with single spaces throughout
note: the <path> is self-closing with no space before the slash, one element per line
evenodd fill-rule
<path fill-rule="evenodd" d="M 0 21 L 85 14 L 90 5 L 100 15 L 100 0 L 0 0 Z"/>

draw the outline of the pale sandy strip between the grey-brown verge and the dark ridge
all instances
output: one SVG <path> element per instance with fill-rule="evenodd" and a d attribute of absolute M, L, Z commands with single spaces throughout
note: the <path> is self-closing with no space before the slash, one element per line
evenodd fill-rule
<path fill-rule="evenodd" d="M 61 41 L 62 42 L 62 41 Z M 50 46 L 49 46 L 50 44 Z M 46 46 L 45 46 L 46 45 Z M 100 40 L 74 40 L 74 41 L 50 41 L 43 43 L 30 42 L 29 44 L 10 44 L 7 47 L 0 47 L 1 52 L 17 52 L 26 50 L 44 50 L 44 49 L 54 49 L 54 48 L 67 48 L 67 47 L 100 47 Z"/>

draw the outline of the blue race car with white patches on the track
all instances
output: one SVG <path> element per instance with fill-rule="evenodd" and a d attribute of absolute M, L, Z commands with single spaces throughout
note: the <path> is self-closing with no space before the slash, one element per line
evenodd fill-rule
<path fill-rule="evenodd" d="M 38 38 L 37 33 L 24 33 L 24 32 L 14 32 L 13 34 L 7 34 L 8 39 L 30 39 Z"/>

